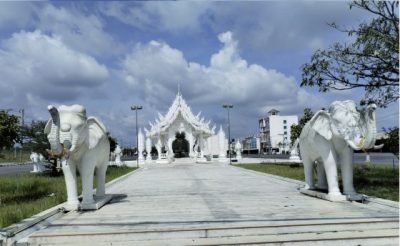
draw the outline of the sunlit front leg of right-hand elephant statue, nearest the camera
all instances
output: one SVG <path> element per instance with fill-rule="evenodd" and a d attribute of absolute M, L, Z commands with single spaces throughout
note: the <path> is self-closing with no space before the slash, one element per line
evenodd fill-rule
<path fill-rule="evenodd" d="M 323 159 L 326 179 L 328 181 L 328 199 L 331 201 L 343 201 L 346 197 L 340 193 L 337 177 L 336 156 L 332 151 Z"/>

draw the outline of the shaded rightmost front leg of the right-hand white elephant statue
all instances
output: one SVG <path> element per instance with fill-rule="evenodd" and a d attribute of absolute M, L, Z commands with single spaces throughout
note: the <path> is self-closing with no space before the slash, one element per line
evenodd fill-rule
<path fill-rule="evenodd" d="M 356 190 L 353 185 L 353 151 L 349 148 L 344 150 L 340 156 L 342 169 L 343 193 L 346 195 L 355 195 Z"/>

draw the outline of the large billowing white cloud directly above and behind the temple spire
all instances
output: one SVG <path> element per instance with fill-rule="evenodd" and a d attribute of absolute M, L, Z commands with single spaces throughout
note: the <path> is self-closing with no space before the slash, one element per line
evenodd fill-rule
<path fill-rule="evenodd" d="M 150 105 L 168 104 L 178 82 L 191 102 L 232 102 L 249 106 L 256 114 L 264 112 L 266 105 L 299 109 L 311 98 L 298 88 L 293 77 L 248 64 L 240 56 L 231 32 L 221 33 L 218 38 L 223 47 L 211 56 L 209 66 L 187 61 L 180 50 L 164 42 L 138 44 L 122 61 L 123 79 Z"/>

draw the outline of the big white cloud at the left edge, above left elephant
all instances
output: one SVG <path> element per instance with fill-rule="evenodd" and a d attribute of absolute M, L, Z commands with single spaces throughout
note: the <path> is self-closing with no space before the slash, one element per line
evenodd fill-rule
<path fill-rule="evenodd" d="M 4 40 L 0 67 L 0 85 L 7 88 L 7 96 L 29 103 L 33 98 L 72 100 L 82 88 L 98 87 L 109 76 L 93 57 L 40 31 L 21 31 Z"/>

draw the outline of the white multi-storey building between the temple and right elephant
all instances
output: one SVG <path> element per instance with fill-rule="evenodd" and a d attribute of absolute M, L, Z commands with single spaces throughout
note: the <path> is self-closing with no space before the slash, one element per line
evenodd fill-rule
<path fill-rule="evenodd" d="M 280 115 L 272 109 L 268 116 L 259 120 L 260 147 L 262 153 L 282 153 L 290 149 L 290 127 L 298 124 L 297 115 Z"/>

